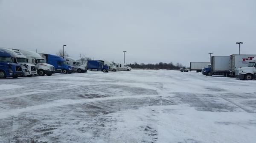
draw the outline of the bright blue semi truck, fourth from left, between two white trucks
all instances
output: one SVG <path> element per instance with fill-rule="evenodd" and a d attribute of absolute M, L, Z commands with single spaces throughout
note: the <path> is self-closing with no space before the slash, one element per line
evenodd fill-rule
<path fill-rule="evenodd" d="M 72 73 L 73 69 L 67 64 L 67 62 L 61 57 L 47 53 L 39 53 L 42 58 L 45 59 L 47 64 L 54 66 L 56 73 Z"/>

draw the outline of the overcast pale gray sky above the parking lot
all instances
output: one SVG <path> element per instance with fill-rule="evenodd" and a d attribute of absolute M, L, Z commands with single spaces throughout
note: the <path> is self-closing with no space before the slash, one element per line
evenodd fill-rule
<path fill-rule="evenodd" d="M 0 0 L 0 47 L 127 63 L 256 54 L 256 0 Z"/>

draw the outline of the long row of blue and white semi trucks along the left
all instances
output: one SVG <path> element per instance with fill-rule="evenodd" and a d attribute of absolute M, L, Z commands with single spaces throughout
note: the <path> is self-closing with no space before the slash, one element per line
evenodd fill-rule
<path fill-rule="evenodd" d="M 51 76 L 55 73 L 84 73 L 88 70 L 108 71 L 126 70 L 131 67 L 114 62 L 89 60 L 82 64 L 71 57 L 61 57 L 29 50 L 0 48 L 0 78 L 19 76 Z"/>

